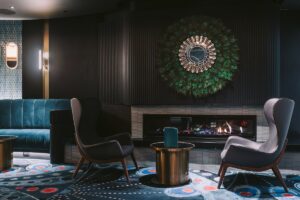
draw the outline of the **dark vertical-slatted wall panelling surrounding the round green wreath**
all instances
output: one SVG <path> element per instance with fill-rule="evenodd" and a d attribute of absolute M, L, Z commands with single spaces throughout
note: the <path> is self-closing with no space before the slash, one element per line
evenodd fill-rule
<path fill-rule="evenodd" d="M 240 47 L 232 82 L 205 98 L 186 97 L 169 88 L 158 72 L 158 41 L 165 28 L 191 15 L 177 12 L 113 14 L 99 25 L 99 97 L 127 105 L 262 105 L 279 95 L 279 11 L 219 14 Z M 197 14 L 197 13 L 195 13 Z M 238 16 L 238 17 L 237 17 Z"/>

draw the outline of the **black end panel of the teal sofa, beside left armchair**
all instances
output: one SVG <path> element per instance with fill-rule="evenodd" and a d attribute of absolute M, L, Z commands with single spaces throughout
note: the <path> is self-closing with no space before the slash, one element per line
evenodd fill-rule
<path fill-rule="evenodd" d="M 50 112 L 50 159 L 51 163 L 64 162 L 66 141 L 74 140 L 74 124 L 71 110 Z"/>

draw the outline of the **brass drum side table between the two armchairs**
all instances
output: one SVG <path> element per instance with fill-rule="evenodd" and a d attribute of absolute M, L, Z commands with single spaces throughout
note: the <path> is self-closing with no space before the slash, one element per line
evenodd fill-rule
<path fill-rule="evenodd" d="M 156 173 L 159 184 L 176 186 L 189 182 L 189 152 L 194 144 L 178 142 L 176 148 L 168 148 L 163 142 L 150 144 L 156 152 Z"/>

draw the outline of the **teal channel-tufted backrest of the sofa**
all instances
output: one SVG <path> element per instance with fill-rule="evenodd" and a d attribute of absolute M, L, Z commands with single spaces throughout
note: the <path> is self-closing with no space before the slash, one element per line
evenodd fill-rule
<path fill-rule="evenodd" d="M 0 100 L 0 128 L 48 129 L 50 111 L 70 109 L 68 99 Z"/>

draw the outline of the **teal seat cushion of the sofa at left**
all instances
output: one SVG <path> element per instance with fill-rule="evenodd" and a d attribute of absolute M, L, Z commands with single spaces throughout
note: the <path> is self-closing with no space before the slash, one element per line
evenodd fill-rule
<path fill-rule="evenodd" d="M 16 136 L 15 150 L 49 149 L 49 129 L 0 129 L 0 135 Z"/>

